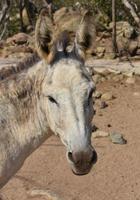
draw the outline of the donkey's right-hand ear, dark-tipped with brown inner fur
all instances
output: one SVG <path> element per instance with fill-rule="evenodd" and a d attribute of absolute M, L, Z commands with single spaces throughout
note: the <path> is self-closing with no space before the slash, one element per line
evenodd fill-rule
<path fill-rule="evenodd" d="M 95 22 L 90 11 L 86 11 L 79 29 L 76 32 L 74 53 L 82 61 L 85 60 L 85 51 L 93 44 L 96 36 Z"/>

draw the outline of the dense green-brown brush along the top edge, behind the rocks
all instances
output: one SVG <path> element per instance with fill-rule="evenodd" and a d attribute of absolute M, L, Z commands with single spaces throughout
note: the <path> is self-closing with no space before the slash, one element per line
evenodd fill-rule
<path fill-rule="evenodd" d="M 27 21 L 34 26 L 36 21 L 36 14 L 40 8 L 51 3 L 53 10 L 57 10 L 64 6 L 75 7 L 76 3 L 80 3 L 91 10 L 95 14 L 102 13 L 103 17 L 108 20 L 108 23 L 112 21 L 112 0 L 1 0 L 0 1 L 0 39 L 3 37 L 11 36 L 19 31 L 25 31 Z M 129 3 L 140 17 L 140 1 L 129 0 Z M 123 4 L 123 0 L 117 0 L 116 4 L 116 20 L 126 20 L 132 25 L 136 25 L 128 8 Z M 29 15 L 28 20 L 22 22 L 23 12 L 25 10 Z M 102 19 L 104 20 L 104 19 Z M 26 21 L 26 22 L 25 22 Z M 25 24 L 24 24 L 25 23 Z"/>

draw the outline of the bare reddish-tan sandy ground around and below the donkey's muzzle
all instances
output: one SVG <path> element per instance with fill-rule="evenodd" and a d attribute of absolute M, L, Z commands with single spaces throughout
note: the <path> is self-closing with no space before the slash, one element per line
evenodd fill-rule
<path fill-rule="evenodd" d="M 116 98 L 105 109 L 96 102 L 96 126 L 122 133 L 127 144 L 92 139 L 97 164 L 88 175 L 79 177 L 69 168 L 64 146 L 51 137 L 1 190 L 1 199 L 50 200 L 46 195 L 31 195 L 35 190 L 50 190 L 63 200 L 140 200 L 140 81 L 135 85 L 106 81 L 97 89 L 112 91 Z"/>

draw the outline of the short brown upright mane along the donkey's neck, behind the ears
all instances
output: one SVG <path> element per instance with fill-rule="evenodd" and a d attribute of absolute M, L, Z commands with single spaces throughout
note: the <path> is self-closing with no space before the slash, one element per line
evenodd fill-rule
<path fill-rule="evenodd" d="M 38 56 L 38 54 L 34 52 L 31 56 L 28 56 L 27 58 L 23 59 L 16 66 L 2 68 L 0 70 L 0 82 L 5 79 L 13 78 L 14 75 L 22 72 L 23 70 L 27 70 L 40 60 L 41 59 Z"/>

